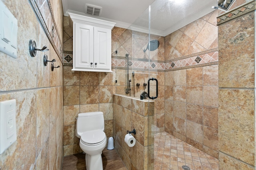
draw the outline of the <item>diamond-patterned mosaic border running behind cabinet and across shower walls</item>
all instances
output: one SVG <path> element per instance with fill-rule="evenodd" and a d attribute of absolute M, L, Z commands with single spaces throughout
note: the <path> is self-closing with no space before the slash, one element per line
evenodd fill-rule
<path fill-rule="evenodd" d="M 73 65 L 73 52 L 64 51 L 64 66 Z M 126 57 L 115 57 L 112 56 L 111 66 L 112 69 L 121 69 L 125 70 L 128 67 L 132 70 L 147 71 L 148 68 L 150 71 L 170 71 L 170 70 L 182 70 L 186 68 L 194 68 L 200 66 L 209 66 L 218 64 L 218 48 L 203 51 L 201 53 L 196 53 L 193 55 L 188 55 L 181 57 L 179 59 L 170 60 L 164 63 L 163 61 L 150 61 L 146 59 L 132 59 L 127 63 Z"/>

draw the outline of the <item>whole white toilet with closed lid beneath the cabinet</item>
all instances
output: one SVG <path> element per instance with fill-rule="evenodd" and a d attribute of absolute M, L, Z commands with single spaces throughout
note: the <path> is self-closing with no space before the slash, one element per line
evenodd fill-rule
<path fill-rule="evenodd" d="M 79 146 L 86 154 L 86 170 L 103 170 L 101 154 L 107 145 L 103 112 L 79 113 L 76 137 L 80 138 Z"/>

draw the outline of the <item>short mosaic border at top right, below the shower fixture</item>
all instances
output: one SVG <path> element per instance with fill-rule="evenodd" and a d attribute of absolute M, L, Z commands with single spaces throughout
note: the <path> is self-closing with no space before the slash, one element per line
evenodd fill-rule
<path fill-rule="evenodd" d="M 241 15 L 244 15 L 248 12 L 252 12 L 256 10 L 255 4 L 256 4 L 255 0 L 252 0 L 246 4 L 243 4 L 242 6 L 238 6 L 237 8 L 234 8 L 232 11 L 226 12 L 221 16 L 218 16 L 217 25 L 220 25 L 221 23 L 224 23 L 226 21 L 232 20 Z"/>

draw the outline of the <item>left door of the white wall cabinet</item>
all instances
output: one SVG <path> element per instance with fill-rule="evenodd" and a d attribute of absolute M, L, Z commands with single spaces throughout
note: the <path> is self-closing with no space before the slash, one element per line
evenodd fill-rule
<path fill-rule="evenodd" d="M 74 50 L 73 50 L 73 68 L 75 69 L 93 69 L 93 26 L 74 23 Z"/>

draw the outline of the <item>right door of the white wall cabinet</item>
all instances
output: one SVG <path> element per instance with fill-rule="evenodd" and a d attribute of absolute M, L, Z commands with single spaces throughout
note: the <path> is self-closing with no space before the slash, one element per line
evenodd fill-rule
<path fill-rule="evenodd" d="M 94 69 L 111 70 L 111 29 L 94 27 Z"/>

